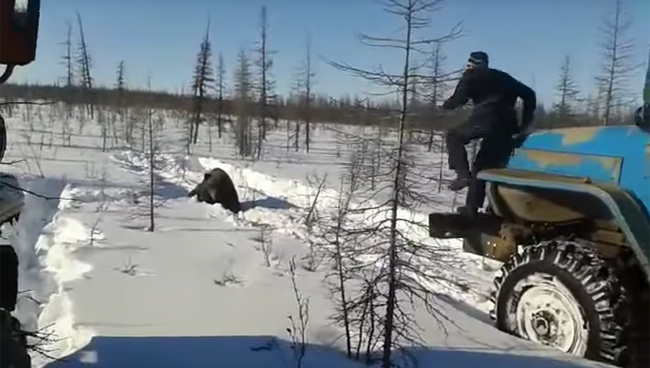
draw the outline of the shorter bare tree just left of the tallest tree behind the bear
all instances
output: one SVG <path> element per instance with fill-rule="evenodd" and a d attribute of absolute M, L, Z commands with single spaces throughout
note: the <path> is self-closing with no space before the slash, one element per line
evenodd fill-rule
<path fill-rule="evenodd" d="M 237 56 L 237 68 L 234 78 L 234 104 L 236 111 L 235 143 L 241 157 L 250 157 L 254 152 L 252 131 L 252 73 L 251 63 L 245 50 Z"/>

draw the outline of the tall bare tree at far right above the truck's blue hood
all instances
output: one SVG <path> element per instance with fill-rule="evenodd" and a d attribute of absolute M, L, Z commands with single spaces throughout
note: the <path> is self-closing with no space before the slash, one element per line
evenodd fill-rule
<path fill-rule="evenodd" d="M 623 1 L 615 0 L 613 12 L 603 19 L 600 28 L 603 35 L 600 42 L 603 65 L 596 83 L 603 89 L 601 108 L 604 125 L 612 123 L 612 114 L 618 107 L 617 101 L 627 97 L 627 83 L 638 67 L 631 64 L 634 42 L 627 36 L 631 26 L 632 22 L 627 19 L 623 9 Z"/>

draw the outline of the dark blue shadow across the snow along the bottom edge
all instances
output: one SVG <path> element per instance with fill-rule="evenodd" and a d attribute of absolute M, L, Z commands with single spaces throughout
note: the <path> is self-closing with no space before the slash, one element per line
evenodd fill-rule
<path fill-rule="evenodd" d="M 575 363 L 543 357 L 456 349 L 416 349 L 423 367 L 579 368 Z M 291 344 L 271 336 L 108 337 L 46 368 L 287 368 L 295 366 Z M 361 368 L 340 352 L 310 345 L 305 368 Z"/>

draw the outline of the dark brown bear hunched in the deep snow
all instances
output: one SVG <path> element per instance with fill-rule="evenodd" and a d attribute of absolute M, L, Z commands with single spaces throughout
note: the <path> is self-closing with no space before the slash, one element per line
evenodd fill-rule
<path fill-rule="evenodd" d="M 194 196 L 199 202 L 219 203 L 223 208 L 235 214 L 241 211 L 241 203 L 239 203 L 235 185 L 230 176 L 219 168 L 212 169 L 203 175 L 203 181 L 188 193 L 188 197 Z"/>

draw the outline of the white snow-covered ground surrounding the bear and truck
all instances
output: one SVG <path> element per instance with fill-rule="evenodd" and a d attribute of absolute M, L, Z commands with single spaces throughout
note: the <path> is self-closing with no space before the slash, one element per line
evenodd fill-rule
<path fill-rule="evenodd" d="M 169 119 L 157 172 L 165 202 L 149 232 L 137 210 L 145 205 L 146 158 L 125 149 L 102 152 L 99 129 L 91 123 L 79 133 L 71 122 L 75 134 L 65 147 L 59 115 L 45 106 L 6 119 L 4 161 L 14 163 L 3 169 L 38 194 L 27 194 L 13 229 L 24 291 L 17 314 L 27 328 L 52 332 L 43 349 L 63 358 L 52 362 L 34 354 L 35 366 L 295 366 L 287 316 L 298 311 L 288 263 L 305 262 L 309 251 L 304 218 L 315 188 L 307 177 L 328 175 L 319 203 L 322 211 L 334 208 L 350 149 L 333 129 L 375 132 L 319 127 L 311 152 L 304 153 L 287 150 L 280 130 L 269 136 L 263 160 L 252 162 L 238 160 L 230 136 L 218 139 L 216 133 L 211 149 L 204 133 L 192 155 L 182 154 Z M 439 152 L 423 149 L 419 158 L 437 173 Z M 187 198 L 214 167 L 231 175 L 250 209 L 232 215 Z M 431 193 L 434 202 L 401 215 L 424 222 L 430 210 L 447 211 L 461 200 L 437 188 Z M 445 249 L 428 266 L 451 280 L 430 287 L 440 295 L 439 310 L 454 323 L 441 326 L 425 311 L 417 314 L 427 345 L 414 351 L 422 366 L 601 366 L 497 331 L 487 316 L 487 295 L 498 264 L 463 253 L 458 241 L 427 239 L 422 230 L 409 236 Z M 323 270 L 297 268 L 300 292 L 310 300 L 302 366 L 360 367 L 337 351 L 341 331 L 328 319 L 332 302 L 323 276 Z"/>

